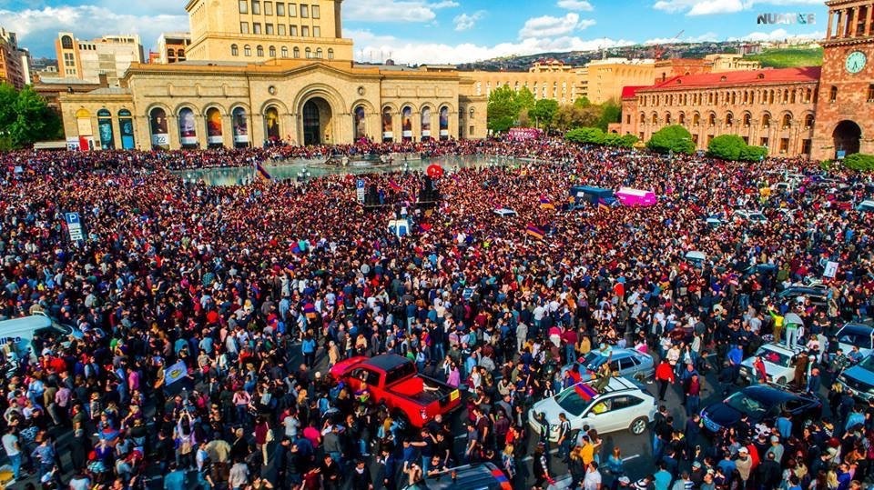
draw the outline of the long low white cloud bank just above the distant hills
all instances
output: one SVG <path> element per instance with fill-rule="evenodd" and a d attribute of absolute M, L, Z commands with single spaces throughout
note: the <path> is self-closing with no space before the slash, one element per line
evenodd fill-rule
<path fill-rule="evenodd" d="M 475 45 L 464 43 L 449 45 L 422 43 L 399 39 L 391 35 L 374 35 L 371 31 L 348 31 L 356 46 L 355 57 L 359 61 L 379 62 L 391 55 L 399 64 L 458 64 L 471 63 L 501 56 L 536 55 L 548 52 L 590 51 L 619 45 L 634 45 L 625 39 L 581 39 L 577 36 L 554 38 L 529 37 L 518 43 L 498 45 Z"/>

